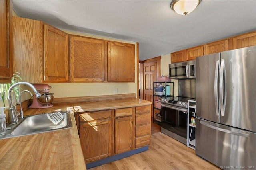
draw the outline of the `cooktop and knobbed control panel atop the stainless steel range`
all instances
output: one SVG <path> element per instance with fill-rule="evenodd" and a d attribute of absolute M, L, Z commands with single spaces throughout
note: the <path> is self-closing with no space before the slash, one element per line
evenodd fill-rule
<path fill-rule="evenodd" d="M 161 103 L 172 105 L 172 106 L 177 106 L 177 107 L 187 108 L 188 100 L 195 100 L 195 99 L 176 96 L 176 97 L 171 97 L 171 98 L 162 98 Z M 193 105 L 193 103 L 191 103 L 191 104 Z"/>

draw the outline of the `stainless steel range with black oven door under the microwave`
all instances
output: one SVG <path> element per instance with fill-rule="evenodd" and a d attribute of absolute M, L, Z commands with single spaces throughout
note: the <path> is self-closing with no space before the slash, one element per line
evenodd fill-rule
<path fill-rule="evenodd" d="M 187 143 L 188 100 L 192 98 L 172 97 L 161 99 L 161 132 L 184 143 Z M 191 140 L 194 139 L 192 135 Z"/>

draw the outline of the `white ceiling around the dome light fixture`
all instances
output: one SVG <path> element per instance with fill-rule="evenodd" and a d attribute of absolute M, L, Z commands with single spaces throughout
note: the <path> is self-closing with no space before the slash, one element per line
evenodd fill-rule
<path fill-rule="evenodd" d="M 18 16 L 139 43 L 140 60 L 256 30 L 256 0 L 202 0 L 186 16 L 172 0 L 13 0 Z"/>

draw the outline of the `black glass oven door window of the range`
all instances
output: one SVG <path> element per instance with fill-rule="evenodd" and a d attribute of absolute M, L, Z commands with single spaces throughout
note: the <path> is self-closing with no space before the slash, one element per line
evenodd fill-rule
<path fill-rule="evenodd" d="M 162 107 L 161 127 L 187 138 L 187 114 L 182 111 Z"/>

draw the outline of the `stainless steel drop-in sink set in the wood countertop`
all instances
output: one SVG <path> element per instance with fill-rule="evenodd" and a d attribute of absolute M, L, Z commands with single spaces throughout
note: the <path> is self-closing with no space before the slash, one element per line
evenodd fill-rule
<path fill-rule="evenodd" d="M 7 130 L 5 137 L 0 137 L 0 139 L 45 133 L 70 127 L 72 127 L 70 111 L 24 116 L 21 123 L 15 128 Z"/>

